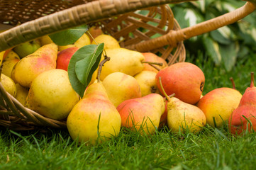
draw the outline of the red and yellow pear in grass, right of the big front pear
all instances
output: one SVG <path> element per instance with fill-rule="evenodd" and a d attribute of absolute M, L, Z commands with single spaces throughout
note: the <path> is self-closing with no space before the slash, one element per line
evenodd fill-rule
<path fill-rule="evenodd" d="M 122 126 L 146 135 L 154 134 L 165 112 L 165 101 L 160 94 L 148 94 L 123 101 L 117 108 Z"/>

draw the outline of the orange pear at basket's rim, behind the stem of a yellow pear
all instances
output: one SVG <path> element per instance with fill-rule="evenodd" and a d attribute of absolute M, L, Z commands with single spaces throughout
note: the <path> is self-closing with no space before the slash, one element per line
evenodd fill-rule
<path fill-rule="evenodd" d="M 158 63 L 162 63 L 162 66 L 156 66 L 159 69 L 164 69 L 165 67 L 168 67 L 167 62 L 162 57 L 159 57 L 158 55 L 155 55 L 152 52 L 142 52 L 142 54 L 145 57 L 144 62 L 158 62 Z M 159 70 L 157 70 L 154 67 L 150 66 L 150 64 L 148 64 L 148 63 L 144 63 L 143 65 L 144 65 L 144 69 L 143 70 L 148 70 L 148 71 L 152 71 L 152 72 L 156 72 L 156 73 L 159 72 Z"/>

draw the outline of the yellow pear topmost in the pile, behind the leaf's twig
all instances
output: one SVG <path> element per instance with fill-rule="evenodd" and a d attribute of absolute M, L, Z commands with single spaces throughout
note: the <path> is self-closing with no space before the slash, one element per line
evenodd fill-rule
<path fill-rule="evenodd" d="M 119 42 L 113 38 L 111 35 L 106 35 L 106 34 L 101 34 L 98 35 L 96 38 L 94 38 L 94 40 L 91 41 L 91 44 L 100 44 L 104 42 L 104 49 L 108 49 L 108 48 L 119 48 Z"/>

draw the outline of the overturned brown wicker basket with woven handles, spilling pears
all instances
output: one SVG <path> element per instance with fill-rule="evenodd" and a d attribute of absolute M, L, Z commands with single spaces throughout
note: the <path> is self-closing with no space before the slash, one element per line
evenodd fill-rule
<path fill-rule="evenodd" d="M 0 0 L 1 9 L 10 1 Z M 0 22 L 14 28 L 0 34 L 0 51 L 43 35 L 55 33 L 87 23 L 101 26 L 104 33 L 121 40 L 121 47 L 140 52 L 160 54 L 168 64 L 184 62 L 183 40 L 208 33 L 234 23 L 255 11 L 255 5 L 247 2 L 243 7 L 218 18 L 181 29 L 167 4 L 181 0 L 66 0 L 13 1 L 11 10 L 0 11 Z M 143 15 L 139 10 L 148 11 Z M 18 13 L 11 13 L 16 11 Z M 21 13 L 21 14 L 19 14 Z M 13 14 L 13 15 L 12 15 Z M 3 17 L 2 17 L 3 16 Z M 152 26 L 154 22 L 155 25 Z M 16 26 L 17 23 L 21 25 Z M 143 28 L 143 32 L 140 31 Z M 160 35 L 152 38 L 154 35 Z M 33 130 L 42 127 L 66 128 L 65 120 L 52 120 L 19 103 L 8 94 L 0 83 L 0 127 L 11 130 Z"/>

